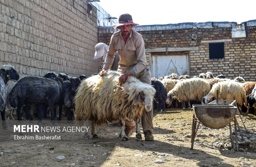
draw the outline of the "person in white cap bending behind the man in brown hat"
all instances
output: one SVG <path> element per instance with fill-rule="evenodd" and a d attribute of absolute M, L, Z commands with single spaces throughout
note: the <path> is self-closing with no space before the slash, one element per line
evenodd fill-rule
<path fill-rule="evenodd" d="M 109 49 L 108 45 L 106 45 L 104 43 L 98 43 L 97 45 L 95 45 L 96 52 L 95 52 L 93 59 L 99 59 L 100 57 L 103 56 L 103 60 L 105 60 L 108 49 Z M 119 54 L 118 54 L 118 52 L 116 52 L 114 61 L 113 61 L 110 69 L 113 71 L 117 71 L 119 61 L 120 61 Z"/>

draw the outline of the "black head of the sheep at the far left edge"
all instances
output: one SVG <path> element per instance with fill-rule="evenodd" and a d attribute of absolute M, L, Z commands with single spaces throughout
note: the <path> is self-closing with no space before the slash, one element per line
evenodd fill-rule
<path fill-rule="evenodd" d="M 2 79 L 7 85 L 8 80 L 19 80 L 19 74 L 16 70 L 10 65 L 3 65 L 0 69 L 0 74 L 2 75 Z"/>

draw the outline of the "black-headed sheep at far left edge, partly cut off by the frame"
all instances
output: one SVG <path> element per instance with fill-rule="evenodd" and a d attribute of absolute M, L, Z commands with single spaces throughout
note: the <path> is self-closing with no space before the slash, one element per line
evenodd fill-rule
<path fill-rule="evenodd" d="M 7 129 L 5 122 L 5 108 L 7 101 L 7 83 L 9 80 L 19 80 L 19 74 L 10 65 L 3 65 L 0 69 L 0 113 L 2 117 L 2 127 Z"/>

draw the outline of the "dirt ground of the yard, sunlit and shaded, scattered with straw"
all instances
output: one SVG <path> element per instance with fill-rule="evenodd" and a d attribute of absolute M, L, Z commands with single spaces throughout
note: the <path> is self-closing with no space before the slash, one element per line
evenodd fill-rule
<path fill-rule="evenodd" d="M 137 139 L 135 131 L 128 141 L 121 141 L 121 128 L 116 125 L 98 127 L 99 138 L 90 143 L 82 133 L 61 141 L 1 141 L 0 167 L 256 166 L 255 115 L 242 116 L 248 129 L 242 133 L 251 143 L 239 146 L 239 152 L 231 146 L 228 127 L 210 129 L 204 125 L 200 125 L 190 150 L 192 115 L 193 111 L 181 109 L 154 111 L 154 141 L 145 141 L 144 134 Z M 237 120 L 242 125 L 240 118 Z"/>

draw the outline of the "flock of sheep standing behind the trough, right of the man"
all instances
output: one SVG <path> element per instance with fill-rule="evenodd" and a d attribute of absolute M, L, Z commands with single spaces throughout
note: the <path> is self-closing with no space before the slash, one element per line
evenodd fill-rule
<path fill-rule="evenodd" d="M 157 91 L 155 94 L 154 104 L 157 111 L 160 111 L 160 105 L 162 106 L 161 110 L 165 110 L 164 102 L 168 104 L 167 106 L 173 107 L 175 99 L 175 106 L 177 107 L 178 101 L 182 102 L 183 109 L 185 109 L 185 102 L 188 102 L 189 108 L 191 108 L 191 101 L 207 104 L 213 98 L 217 98 L 216 90 L 219 90 L 219 99 L 236 100 L 240 111 L 244 105 L 247 107 L 247 113 L 249 113 L 249 108 L 254 107 L 254 114 L 256 114 L 256 82 L 247 82 L 240 76 L 232 80 L 225 78 L 224 75 L 214 77 L 211 72 L 207 72 L 206 74 L 201 73 L 199 77 L 190 78 L 187 75 L 182 75 L 178 78 L 177 74 L 173 73 L 169 76 L 162 76 L 158 80 L 152 78 L 152 83 L 156 81 L 158 81 L 158 85 L 164 85 L 167 90 L 167 95 L 165 89 Z"/>

